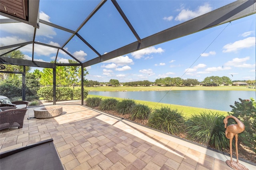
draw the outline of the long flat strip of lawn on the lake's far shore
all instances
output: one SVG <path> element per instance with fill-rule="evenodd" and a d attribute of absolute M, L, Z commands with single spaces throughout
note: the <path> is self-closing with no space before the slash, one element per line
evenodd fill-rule
<path fill-rule="evenodd" d="M 77 87 L 78 88 L 78 87 Z M 246 86 L 194 86 L 194 87 L 161 87 L 161 86 L 120 86 L 120 87 L 84 87 L 88 91 L 163 91 L 163 90 L 242 90 L 255 91 L 255 89 L 247 88 Z"/>

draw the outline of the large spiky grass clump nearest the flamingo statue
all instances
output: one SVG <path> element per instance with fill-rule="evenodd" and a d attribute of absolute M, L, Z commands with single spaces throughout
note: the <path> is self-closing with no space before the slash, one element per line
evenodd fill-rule
<path fill-rule="evenodd" d="M 225 116 L 218 112 L 192 115 L 186 122 L 188 138 L 218 150 L 228 148 L 229 140 L 225 135 L 224 118 Z"/>

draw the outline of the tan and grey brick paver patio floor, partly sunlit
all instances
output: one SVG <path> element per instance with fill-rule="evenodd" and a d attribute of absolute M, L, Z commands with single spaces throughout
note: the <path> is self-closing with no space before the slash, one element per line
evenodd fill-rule
<path fill-rule="evenodd" d="M 229 156 L 197 144 L 81 105 L 62 107 L 58 117 L 30 120 L 35 107 L 28 108 L 23 128 L 0 131 L 0 152 L 53 138 L 66 170 L 231 169 L 225 162 Z"/>

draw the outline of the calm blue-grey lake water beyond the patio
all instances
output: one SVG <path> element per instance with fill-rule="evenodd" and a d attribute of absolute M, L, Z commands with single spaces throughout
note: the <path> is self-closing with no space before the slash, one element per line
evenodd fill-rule
<path fill-rule="evenodd" d="M 255 99 L 255 91 L 206 91 L 206 90 L 175 90 L 175 91 L 89 91 L 90 95 L 119 97 L 231 111 L 230 105 L 241 99 Z"/>

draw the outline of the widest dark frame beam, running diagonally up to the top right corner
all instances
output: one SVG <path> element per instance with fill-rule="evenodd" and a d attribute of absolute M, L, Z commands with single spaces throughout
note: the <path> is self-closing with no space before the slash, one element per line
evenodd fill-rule
<path fill-rule="evenodd" d="M 147 48 L 153 45 L 164 43 L 176 38 L 187 36 L 214 26 L 225 24 L 252 14 L 256 14 L 256 0 L 235 1 L 226 6 L 198 16 L 192 20 L 168 28 L 162 32 L 148 36 L 139 42 L 133 42 L 129 45 L 111 51 L 83 63 L 83 67 L 88 67 L 102 61 L 106 61 L 124 54 L 128 54 L 139 49 Z"/>

